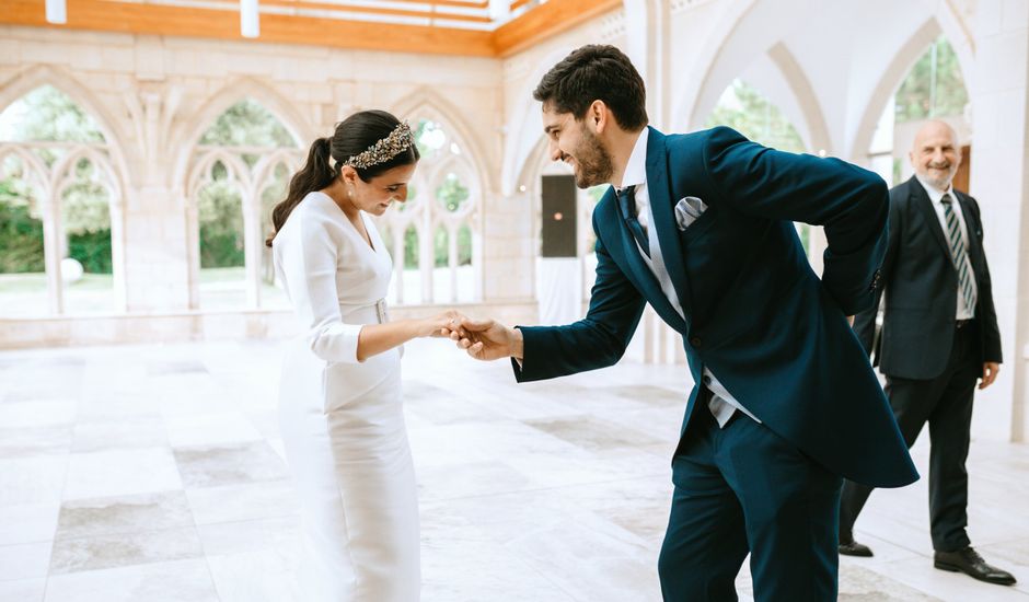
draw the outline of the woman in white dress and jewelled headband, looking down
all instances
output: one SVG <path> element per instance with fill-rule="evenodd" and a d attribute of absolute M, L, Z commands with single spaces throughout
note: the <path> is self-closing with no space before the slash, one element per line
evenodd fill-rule
<path fill-rule="evenodd" d="M 418 159 L 407 124 L 357 113 L 314 142 L 273 211 L 268 245 L 303 328 L 286 352 L 279 420 L 301 498 L 304 602 L 419 597 L 401 345 L 456 314 L 388 321 L 392 262 L 368 218 L 407 198 Z"/>

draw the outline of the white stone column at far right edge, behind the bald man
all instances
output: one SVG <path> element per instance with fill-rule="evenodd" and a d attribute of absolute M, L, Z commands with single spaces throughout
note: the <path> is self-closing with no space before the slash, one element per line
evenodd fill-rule
<path fill-rule="evenodd" d="M 979 200 L 1004 366 L 976 394 L 973 436 L 1025 441 L 1029 359 L 1029 0 L 981 0 L 971 89 L 971 193 Z"/>

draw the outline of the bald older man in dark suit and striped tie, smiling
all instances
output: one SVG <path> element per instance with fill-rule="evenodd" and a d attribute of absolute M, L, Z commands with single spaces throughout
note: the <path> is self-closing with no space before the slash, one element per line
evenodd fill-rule
<path fill-rule="evenodd" d="M 961 162 L 953 129 L 929 121 L 911 150 L 915 175 L 890 190 L 882 264 L 886 309 L 858 314 L 855 331 L 886 374 L 886 392 L 907 445 L 929 424 L 929 512 L 936 568 L 1009 586 L 1015 578 L 971 547 L 968 524 L 969 427 L 975 381 L 986 389 L 1001 368 L 1001 335 L 983 253 L 979 205 L 953 189 Z M 878 301 L 878 300 L 877 300 Z M 847 482 L 840 506 L 840 553 L 871 556 L 854 541 L 854 521 L 871 487 Z"/>

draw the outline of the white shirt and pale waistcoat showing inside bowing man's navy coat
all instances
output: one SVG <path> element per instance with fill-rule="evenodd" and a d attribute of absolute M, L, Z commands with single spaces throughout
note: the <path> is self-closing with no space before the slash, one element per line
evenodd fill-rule
<path fill-rule="evenodd" d="M 644 232 L 647 233 L 647 241 L 650 247 L 650 257 L 647 257 L 647 254 L 644 253 L 641 248 L 639 250 L 639 255 L 661 285 L 661 291 L 664 293 L 664 297 L 668 298 L 669 303 L 679 312 L 680 316 L 683 316 L 682 305 L 679 303 L 679 294 L 675 292 L 675 287 L 672 285 L 668 268 L 664 267 L 664 257 L 661 255 L 661 245 L 658 242 L 657 230 L 649 228 L 650 223 L 654 222 L 650 195 L 647 192 L 647 141 L 649 138 L 649 128 L 644 128 L 639 138 L 636 139 L 633 154 L 629 155 L 628 164 L 625 166 L 625 174 L 622 176 L 622 187 L 636 187 L 636 219 L 639 221 L 639 225 L 643 227 Z M 636 246 L 638 247 L 639 244 L 637 243 Z M 703 368 L 702 379 L 704 386 L 709 389 L 714 394 L 707 405 L 715 416 L 715 419 L 718 421 L 719 427 L 725 427 L 737 409 L 754 420 L 758 420 L 758 417 L 748 412 L 718 379 L 715 378 L 715 374 L 713 374 L 710 369 L 706 366 Z M 758 421 L 760 422 L 761 420 Z"/>

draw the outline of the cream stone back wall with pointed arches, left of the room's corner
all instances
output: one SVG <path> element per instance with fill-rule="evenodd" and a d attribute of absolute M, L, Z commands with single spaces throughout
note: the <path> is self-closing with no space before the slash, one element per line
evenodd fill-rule
<path fill-rule="evenodd" d="M 481 205 L 496 195 L 500 78 L 494 60 L 433 57 L 427 68 L 416 55 L 10 26 L 0 27 L 0 106 L 48 83 L 101 125 L 125 190 L 131 314 L 195 304 L 189 162 L 204 130 L 246 96 L 270 109 L 304 150 L 359 108 L 429 115 L 466 147 Z"/>

